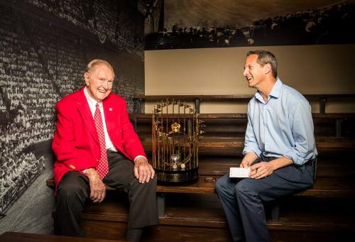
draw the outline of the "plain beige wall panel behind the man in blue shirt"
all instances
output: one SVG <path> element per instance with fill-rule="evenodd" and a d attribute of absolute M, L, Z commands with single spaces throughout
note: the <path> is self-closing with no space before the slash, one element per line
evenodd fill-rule
<path fill-rule="evenodd" d="M 302 94 L 355 93 L 351 57 L 355 45 L 293 45 L 257 48 L 202 48 L 145 52 L 146 95 L 253 94 L 242 75 L 249 50 L 270 50 L 278 75 Z M 352 56 L 351 56 L 352 55 Z M 222 105 L 222 106 L 220 106 Z M 146 111 L 151 112 L 146 106 Z M 312 103 L 312 110 L 319 105 Z M 245 104 L 202 103 L 201 113 L 245 112 Z M 333 101 L 327 111 L 355 111 L 354 99 Z"/>

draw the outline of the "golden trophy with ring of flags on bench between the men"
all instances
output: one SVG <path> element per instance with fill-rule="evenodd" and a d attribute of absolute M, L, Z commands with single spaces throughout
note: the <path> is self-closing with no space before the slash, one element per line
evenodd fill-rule
<path fill-rule="evenodd" d="M 195 109 L 180 100 L 167 99 L 154 106 L 153 168 L 158 183 L 187 185 L 198 180 L 198 145 L 204 133 L 198 116 Z"/>

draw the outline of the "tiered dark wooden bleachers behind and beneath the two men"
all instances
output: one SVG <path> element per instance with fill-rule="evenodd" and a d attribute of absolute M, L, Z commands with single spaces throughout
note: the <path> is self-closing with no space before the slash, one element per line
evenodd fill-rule
<path fill-rule="evenodd" d="M 196 101 L 200 105 L 202 100 L 247 101 L 249 96 L 199 96 L 198 100 L 195 96 L 180 96 L 175 99 Z M 338 98 L 337 95 L 308 96 L 308 99 L 320 99 L 323 105 L 323 114 L 312 114 L 319 151 L 317 180 L 312 189 L 282 199 L 277 210 L 278 219 L 274 219 L 273 204 L 265 204 L 271 241 L 346 241 L 346 236 L 355 235 L 355 208 L 351 203 L 355 197 L 355 114 L 324 114 L 326 99 Z M 157 97 L 136 97 L 136 110 L 140 100 Z M 355 95 L 350 98 L 353 97 Z M 130 114 L 130 118 L 148 158 L 151 157 L 151 114 Z M 247 116 L 200 114 L 200 119 L 207 125 L 199 148 L 200 179 L 186 186 L 158 185 L 160 224 L 153 226 L 143 241 L 210 241 L 211 238 L 230 241 L 224 211 L 215 193 L 215 182 L 205 179 L 218 178 L 229 172 L 229 167 L 239 165 Z M 54 185 L 53 180 L 47 182 Z M 82 228 L 88 237 L 124 238 L 128 200 L 126 195 L 111 187 L 107 189 L 104 202 L 89 202 L 84 209 Z"/>

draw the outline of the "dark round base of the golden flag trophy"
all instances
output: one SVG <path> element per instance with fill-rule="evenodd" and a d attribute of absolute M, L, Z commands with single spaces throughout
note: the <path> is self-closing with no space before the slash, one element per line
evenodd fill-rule
<path fill-rule="evenodd" d="M 199 179 L 198 167 L 192 170 L 155 170 L 158 185 L 189 185 Z"/>

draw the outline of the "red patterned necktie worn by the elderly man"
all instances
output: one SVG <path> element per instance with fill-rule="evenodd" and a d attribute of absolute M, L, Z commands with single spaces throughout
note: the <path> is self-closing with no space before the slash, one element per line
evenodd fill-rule
<path fill-rule="evenodd" d="M 99 109 L 99 104 L 96 104 L 94 121 L 100 142 L 100 160 L 99 165 L 97 165 L 96 167 L 96 170 L 102 179 L 105 177 L 105 175 L 107 175 L 107 172 L 109 172 L 109 162 L 107 160 L 104 125 L 102 124 L 102 116 L 101 111 Z"/>

